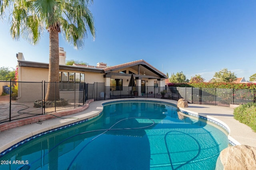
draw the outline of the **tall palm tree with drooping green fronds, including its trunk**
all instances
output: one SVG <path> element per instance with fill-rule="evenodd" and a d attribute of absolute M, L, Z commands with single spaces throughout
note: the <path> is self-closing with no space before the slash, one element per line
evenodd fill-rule
<path fill-rule="evenodd" d="M 15 40 L 20 34 L 30 44 L 36 45 L 47 30 L 50 39 L 48 82 L 59 82 L 59 33 L 75 49 L 84 46 L 88 29 L 95 38 L 94 18 L 88 9 L 92 0 L 1 0 L 0 17 L 6 10 L 11 12 L 10 33 Z M 56 99 L 60 93 L 56 86 Z M 55 99 L 55 85 L 49 83 L 45 100 Z"/>

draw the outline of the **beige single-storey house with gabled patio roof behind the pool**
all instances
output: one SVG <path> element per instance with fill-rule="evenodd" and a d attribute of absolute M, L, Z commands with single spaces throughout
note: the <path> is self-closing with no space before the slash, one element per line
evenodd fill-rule
<path fill-rule="evenodd" d="M 136 91 L 138 96 L 143 95 L 146 90 L 160 93 L 161 88 L 165 86 L 164 73 L 147 63 L 144 60 L 137 60 L 128 63 L 118 64 L 116 66 L 107 66 L 106 63 L 97 63 L 96 66 L 73 64 L 65 65 L 66 52 L 60 48 L 60 96 L 66 98 L 68 94 L 74 90 L 81 93 L 81 90 L 75 83 L 86 84 L 103 84 L 104 87 L 97 89 L 97 94 L 105 92 L 106 97 L 112 94 L 131 93 L 132 88 L 129 87 L 131 75 L 133 74 Z M 26 61 L 22 53 L 16 55 L 18 59 L 18 81 L 19 91 L 18 100 L 34 101 L 42 96 L 42 84 L 48 84 L 48 63 L 39 63 L 34 61 Z M 22 82 L 30 82 L 22 83 Z M 65 84 L 72 83 L 74 84 Z M 53 82 L 52 82 L 53 83 Z M 33 88 L 32 88 L 32 87 Z M 147 89 L 146 89 L 147 87 Z M 98 88 L 98 86 L 97 86 Z M 149 88 L 149 89 L 148 89 Z M 44 90 L 43 90 L 44 91 Z M 31 95 L 33 94 L 33 95 Z"/>

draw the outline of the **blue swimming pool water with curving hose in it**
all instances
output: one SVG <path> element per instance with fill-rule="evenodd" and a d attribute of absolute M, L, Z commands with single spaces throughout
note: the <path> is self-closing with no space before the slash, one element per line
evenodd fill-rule
<path fill-rule="evenodd" d="M 227 134 L 187 116 L 163 103 L 105 104 L 90 121 L 8 152 L 0 169 L 214 170 L 220 151 L 228 147 Z"/>

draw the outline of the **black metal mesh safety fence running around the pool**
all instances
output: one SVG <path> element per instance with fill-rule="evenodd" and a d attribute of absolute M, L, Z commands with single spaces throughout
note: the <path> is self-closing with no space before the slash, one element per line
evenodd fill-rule
<path fill-rule="evenodd" d="M 60 98 L 52 102 L 44 101 L 47 87 L 54 84 L 54 94 L 59 90 Z M 14 82 L 0 81 L 0 123 L 48 114 L 60 110 L 76 108 L 87 100 L 109 100 L 120 98 L 164 98 L 186 99 L 192 104 L 214 106 L 240 105 L 256 101 L 256 89 L 219 89 L 194 87 L 156 86 L 105 86 L 95 82 Z M 56 95 L 55 95 L 56 96 Z M 66 103 L 63 106 L 63 103 Z"/>

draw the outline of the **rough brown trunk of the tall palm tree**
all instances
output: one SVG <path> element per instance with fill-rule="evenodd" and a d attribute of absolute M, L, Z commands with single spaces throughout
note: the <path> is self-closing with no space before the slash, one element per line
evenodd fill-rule
<path fill-rule="evenodd" d="M 46 101 L 54 101 L 60 98 L 59 88 L 59 31 L 49 30 L 50 34 L 50 57 L 49 57 L 49 75 L 48 87 L 46 92 Z M 55 83 L 57 82 L 57 83 Z M 56 86 L 55 86 L 56 84 Z M 55 92 L 56 89 L 56 92 Z M 55 98 L 56 93 L 56 98 Z"/>

